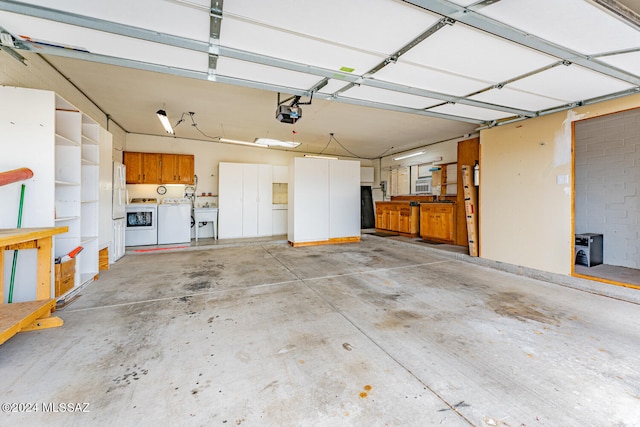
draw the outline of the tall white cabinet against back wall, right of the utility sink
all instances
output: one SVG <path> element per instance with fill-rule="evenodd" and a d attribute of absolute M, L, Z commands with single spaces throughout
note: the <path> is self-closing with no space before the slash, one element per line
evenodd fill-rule
<path fill-rule="evenodd" d="M 272 200 L 271 165 L 220 163 L 218 169 L 219 238 L 271 236 Z"/>

